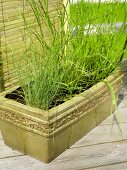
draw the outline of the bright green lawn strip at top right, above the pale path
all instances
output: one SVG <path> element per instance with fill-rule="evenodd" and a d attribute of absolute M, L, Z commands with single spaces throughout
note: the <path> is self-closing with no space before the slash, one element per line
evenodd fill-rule
<path fill-rule="evenodd" d="M 73 21 L 82 19 L 84 24 L 127 21 L 127 3 L 80 2 L 71 4 L 70 14 Z"/>

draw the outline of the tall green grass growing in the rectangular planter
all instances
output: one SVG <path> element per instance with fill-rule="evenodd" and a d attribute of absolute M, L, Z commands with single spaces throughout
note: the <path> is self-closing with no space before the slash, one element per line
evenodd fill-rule
<path fill-rule="evenodd" d="M 27 0 L 27 3 L 32 8 L 37 24 L 37 29 L 29 27 L 22 13 L 25 34 L 29 35 L 30 43 L 25 46 L 24 54 L 21 55 L 24 68 L 17 70 L 27 105 L 48 110 L 119 69 L 121 56 L 125 52 L 123 47 L 126 32 L 124 27 L 117 32 L 113 31 L 114 13 L 105 16 L 111 24 L 108 31 L 106 27 L 102 29 L 102 24 L 96 27 L 96 31 L 92 31 L 92 20 L 86 19 L 88 27 L 84 35 L 82 17 L 87 6 L 78 5 L 77 18 L 71 20 L 70 17 L 71 26 L 67 30 L 66 9 L 57 11 L 60 28 L 57 30 L 46 0 Z M 89 15 L 93 17 L 93 14 Z M 42 21 L 48 29 L 50 41 L 45 37 Z M 72 25 L 75 25 L 76 32 Z"/>

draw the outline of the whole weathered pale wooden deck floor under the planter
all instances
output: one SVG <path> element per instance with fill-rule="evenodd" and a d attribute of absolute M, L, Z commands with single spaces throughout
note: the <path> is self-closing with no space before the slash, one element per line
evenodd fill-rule
<path fill-rule="evenodd" d="M 127 90 L 123 91 L 118 107 L 122 134 L 112 115 L 50 164 L 5 146 L 0 134 L 0 170 L 127 170 Z"/>

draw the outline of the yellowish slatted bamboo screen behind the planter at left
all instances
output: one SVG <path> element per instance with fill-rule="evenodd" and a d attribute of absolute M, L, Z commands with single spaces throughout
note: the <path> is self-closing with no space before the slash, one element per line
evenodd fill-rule
<path fill-rule="evenodd" d="M 19 55 L 24 48 L 22 36 L 24 20 L 22 11 L 25 11 L 29 25 L 36 25 L 32 9 L 25 1 L 0 0 L 0 59 L 2 58 L 3 62 L 3 65 L 1 64 L 0 66 L 1 68 L 3 67 L 5 89 L 13 87 L 17 83 L 13 62 L 21 62 Z M 61 8 L 62 3 L 62 0 L 48 0 L 49 12 L 56 26 L 58 26 L 58 13 L 56 11 Z M 45 26 L 44 31 L 47 39 L 50 39 Z M 2 69 L 0 69 L 0 74 L 2 74 Z"/>

